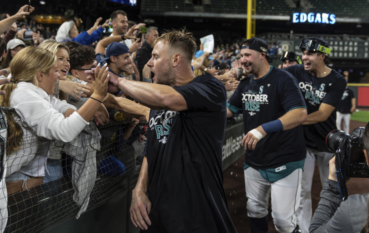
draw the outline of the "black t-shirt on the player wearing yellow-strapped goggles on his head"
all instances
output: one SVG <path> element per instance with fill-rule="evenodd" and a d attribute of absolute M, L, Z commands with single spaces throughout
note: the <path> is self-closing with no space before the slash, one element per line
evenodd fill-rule
<path fill-rule="evenodd" d="M 304 65 L 290 66 L 285 70 L 292 73 L 299 82 L 299 87 L 305 98 L 307 114 L 318 111 L 321 103 L 337 107 L 346 88 L 345 78 L 337 71 L 332 69 L 332 72 L 327 76 L 318 78 L 306 71 Z M 325 146 L 325 138 L 335 129 L 337 129 L 336 110 L 326 121 L 304 125 L 306 146 L 318 151 L 329 152 Z"/>

